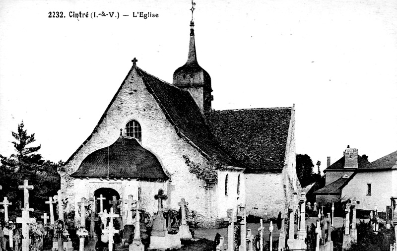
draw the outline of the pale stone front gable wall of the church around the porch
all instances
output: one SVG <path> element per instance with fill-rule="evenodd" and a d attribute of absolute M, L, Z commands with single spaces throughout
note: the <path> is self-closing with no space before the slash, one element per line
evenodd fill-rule
<path fill-rule="evenodd" d="M 73 181 L 68 175 L 78 169 L 88 154 L 115 142 L 120 135 L 120 128 L 124 129 L 130 120 L 135 120 L 141 125 L 142 146 L 156 155 L 172 180 L 172 186 L 164 189 L 165 193 L 172 192 L 171 199 L 165 204 L 178 209 L 178 202 L 184 197 L 189 202 L 188 207 L 195 210 L 197 217 L 202 218 L 204 224 L 215 221 L 217 203 L 214 189 L 205 189 L 205 183 L 189 172 L 182 156 L 188 156 L 192 161 L 204 166 L 208 165 L 206 160 L 189 143 L 177 136 L 174 127 L 167 121 L 134 69 L 126 78 L 124 86 L 97 130 L 65 166 L 66 173 L 62 174 L 61 186 L 66 196 L 71 200 L 75 198 Z M 147 194 L 150 198 L 158 192 L 157 188 L 154 190 L 150 186 L 147 189 L 150 190 L 142 187 L 142 194 Z M 74 201 L 71 202 L 74 204 Z M 154 199 L 152 203 L 156 207 Z M 150 208 L 149 204 L 144 206 Z"/>

